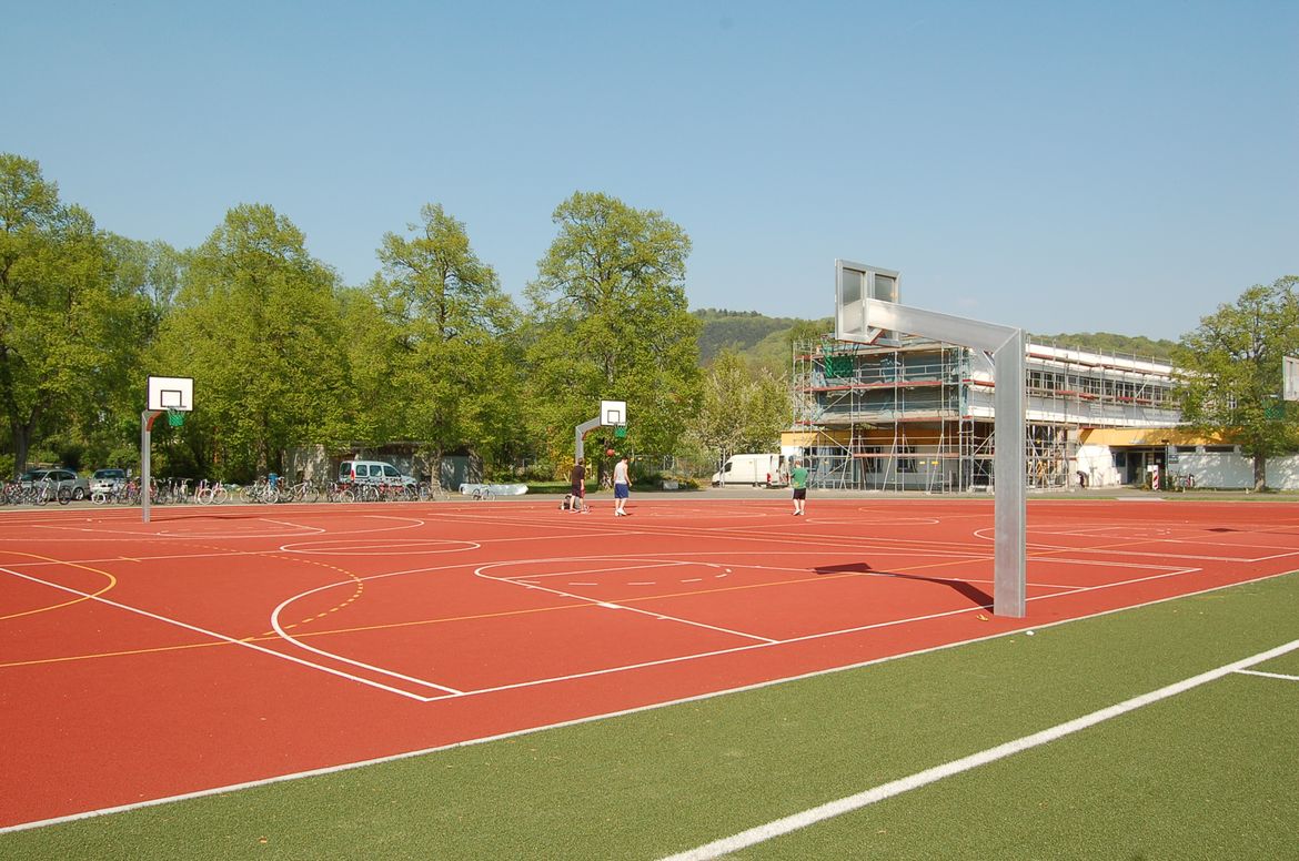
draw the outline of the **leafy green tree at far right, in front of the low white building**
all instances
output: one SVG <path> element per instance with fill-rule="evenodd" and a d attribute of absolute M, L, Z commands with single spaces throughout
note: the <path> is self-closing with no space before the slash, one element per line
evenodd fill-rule
<path fill-rule="evenodd" d="M 1203 317 L 1174 357 L 1183 423 L 1237 442 L 1254 458 L 1256 490 L 1267 484 L 1269 457 L 1299 449 L 1299 409 L 1280 400 L 1281 358 L 1299 355 L 1296 288 L 1295 275 L 1250 287 Z"/>

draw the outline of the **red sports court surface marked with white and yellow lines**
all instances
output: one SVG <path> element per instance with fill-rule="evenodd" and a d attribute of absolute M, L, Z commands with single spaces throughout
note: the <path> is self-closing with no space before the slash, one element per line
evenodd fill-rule
<path fill-rule="evenodd" d="M 0 827 L 852 666 L 1299 568 L 1299 508 L 633 500 L 0 514 Z"/>

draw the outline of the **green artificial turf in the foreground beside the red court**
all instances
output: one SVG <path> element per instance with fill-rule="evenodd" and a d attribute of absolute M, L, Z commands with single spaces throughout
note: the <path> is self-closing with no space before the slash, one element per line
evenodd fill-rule
<path fill-rule="evenodd" d="M 1296 638 L 1291 574 L 1033 638 L 0 835 L 0 857 L 653 858 Z M 1277 666 L 1294 671 L 1294 657 L 1259 669 Z M 1296 716 L 1299 683 L 1231 675 L 742 857 L 1296 857 Z"/>

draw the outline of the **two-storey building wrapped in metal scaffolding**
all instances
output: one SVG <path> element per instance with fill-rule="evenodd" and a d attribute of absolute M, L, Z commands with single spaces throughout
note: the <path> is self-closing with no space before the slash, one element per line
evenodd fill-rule
<path fill-rule="evenodd" d="M 1167 364 L 1030 343 L 1026 484 L 1099 478 L 1082 451 L 1091 429 L 1176 426 L 1172 373 Z M 792 395 L 796 430 L 782 443 L 809 460 L 813 486 L 968 492 L 991 484 L 992 370 L 970 348 L 920 338 L 804 342 L 794 351 Z"/>

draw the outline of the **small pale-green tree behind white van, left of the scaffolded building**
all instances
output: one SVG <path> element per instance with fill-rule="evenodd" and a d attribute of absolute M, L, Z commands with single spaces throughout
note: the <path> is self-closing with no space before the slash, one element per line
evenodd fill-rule
<path fill-rule="evenodd" d="M 765 368 L 751 370 L 738 352 L 724 349 L 704 375 L 691 431 L 704 451 L 722 464 L 740 452 L 778 451 L 788 421 L 785 381 Z"/>

